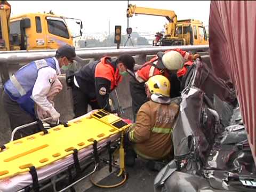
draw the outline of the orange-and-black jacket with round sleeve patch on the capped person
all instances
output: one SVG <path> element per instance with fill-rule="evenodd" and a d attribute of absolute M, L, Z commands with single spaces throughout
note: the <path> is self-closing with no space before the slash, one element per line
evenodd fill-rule
<path fill-rule="evenodd" d="M 116 61 L 103 57 L 85 65 L 75 73 L 79 88 L 89 97 L 97 100 L 100 108 L 109 109 L 109 93 L 122 81 Z"/>

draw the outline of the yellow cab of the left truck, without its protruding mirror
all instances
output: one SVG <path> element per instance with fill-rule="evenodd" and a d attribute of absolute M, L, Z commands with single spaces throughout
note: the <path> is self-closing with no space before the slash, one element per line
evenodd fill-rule
<path fill-rule="evenodd" d="M 58 49 L 73 45 L 73 36 L 64 18 L 53 13 L 27 13 L 10 20 L 11 45 L 20 50 Z"/>

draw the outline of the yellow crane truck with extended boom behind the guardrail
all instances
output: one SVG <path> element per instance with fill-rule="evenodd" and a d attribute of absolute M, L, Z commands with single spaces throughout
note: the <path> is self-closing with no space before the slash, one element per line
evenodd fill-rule
<path fill-rule="evenodd" d="M 165 34 L 158 45 L 205 45 L 209 44 L 206 30 L 199 20 L 186 19 L 177 20 L 174 11 L 152 9 L 128 5 L 126 16 L 130 18 L 133 14 L 144 14 L 165 17 L 169 22 L 164 25 Z M 155 43 L 156 44 L 156 43 Z"/>

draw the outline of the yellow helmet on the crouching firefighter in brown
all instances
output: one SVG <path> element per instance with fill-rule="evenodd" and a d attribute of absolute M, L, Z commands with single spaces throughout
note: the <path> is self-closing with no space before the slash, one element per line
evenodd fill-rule
<path fill-rule="evenodd" d="M 155 75 L 148 79 L 146 82 L 151 94 L 161 94 L 166 97 L 170 97 L 171 83 L 163 75 Z"/>

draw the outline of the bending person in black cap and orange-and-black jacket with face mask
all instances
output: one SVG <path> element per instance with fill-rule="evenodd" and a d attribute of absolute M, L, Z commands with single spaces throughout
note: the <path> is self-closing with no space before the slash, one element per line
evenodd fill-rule
<path fill-rule="evenodd" d="M 105 109 L 109 112 L 109 93 L 122 81 L 122 76 L 133 74 L 134 59 L 122 54 L 116 60 L 103 57 L 91 62 L 74 76 L 67 79 L 72 88 L 74 114 L 79 117 L 87 113 L 87 106 L 92 109 Z"/>

